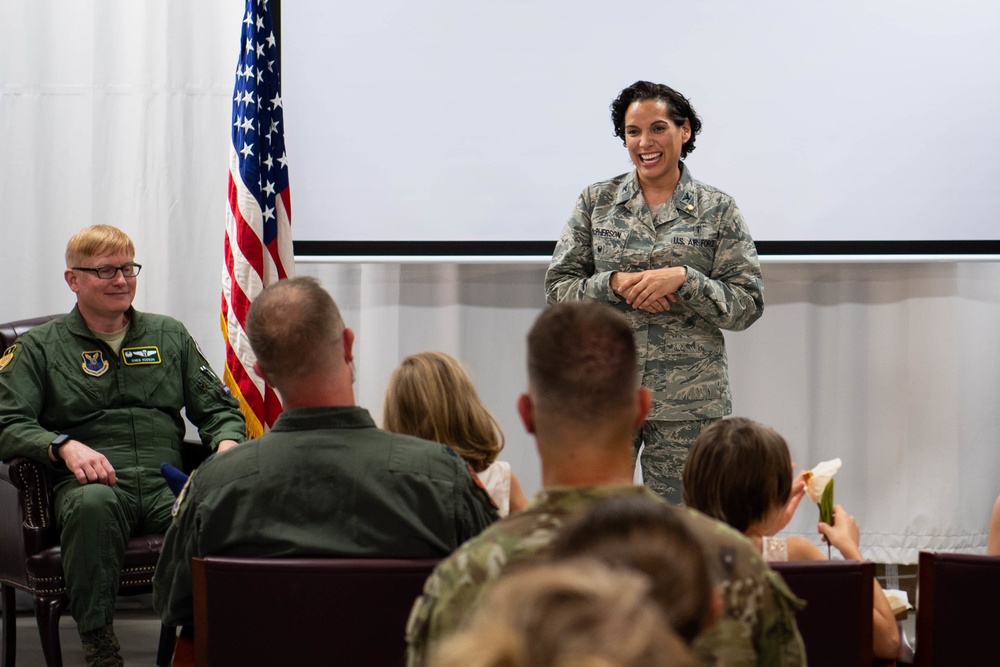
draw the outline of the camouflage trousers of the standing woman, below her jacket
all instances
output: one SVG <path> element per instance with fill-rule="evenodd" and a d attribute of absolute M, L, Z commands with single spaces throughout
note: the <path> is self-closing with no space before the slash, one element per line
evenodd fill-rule
<path fill-rule="evenodd" d="M 718 419 L 667 422 L 647 421 L 635 434 L 635 453 L 645 445 L 639 464 L 642 483 L 674 505 L 684 504 L 684 464 L 702 429 Z"/>

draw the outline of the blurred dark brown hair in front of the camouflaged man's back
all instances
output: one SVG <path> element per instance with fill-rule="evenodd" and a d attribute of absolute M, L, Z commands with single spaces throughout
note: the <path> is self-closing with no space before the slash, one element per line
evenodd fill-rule
<path fill-rule="evenodd" d="M 644 496 L 603 500 L 559 532 L 551 558 L 590 558 L 645 575 L 650 597 L 690 643 L 718 620 L 722 598 L 712 587 L 705 553 L 679 511 Z"/>

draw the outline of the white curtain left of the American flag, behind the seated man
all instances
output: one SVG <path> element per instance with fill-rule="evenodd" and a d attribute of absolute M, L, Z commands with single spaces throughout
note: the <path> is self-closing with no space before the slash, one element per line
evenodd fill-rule
<path fill-rule="evenodd" d="M 3 0 L 0 297 L 5 320 L 62 312 L 66 241 L 135 241 L 136 305 L 219 350 L 240 0 Z"/>

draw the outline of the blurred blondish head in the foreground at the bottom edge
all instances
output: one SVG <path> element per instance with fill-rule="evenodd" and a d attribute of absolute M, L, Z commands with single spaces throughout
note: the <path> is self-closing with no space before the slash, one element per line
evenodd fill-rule
<path fill-rule="evenodd" d="M 693 666 L 649 591 L 649 580 L 639 573 L 596 561 L 526 568 L 501 579 L 430 664 Z"/>

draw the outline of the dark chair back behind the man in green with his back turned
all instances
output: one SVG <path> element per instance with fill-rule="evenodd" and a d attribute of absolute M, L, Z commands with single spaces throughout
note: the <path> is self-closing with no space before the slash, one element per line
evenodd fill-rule
<path fill-rule="evenodd" d="M 410 609 L 437 562 L 195 558 L 195 664 L 403 665 Z"/>

